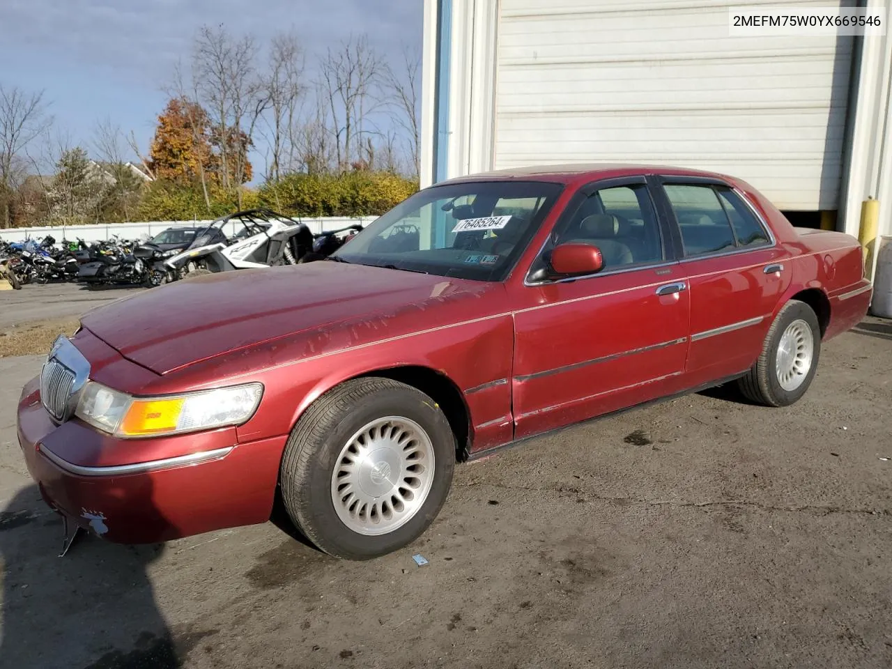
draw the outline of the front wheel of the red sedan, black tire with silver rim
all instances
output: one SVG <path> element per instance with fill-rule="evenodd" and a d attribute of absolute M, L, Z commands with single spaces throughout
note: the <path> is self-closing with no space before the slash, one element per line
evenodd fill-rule
<path fill-rule="evenodd" d="M 361 442 L 374 444 L 374 466 L 363 465 L 372 458 L 351 462 Z M 353 379 L 313 402 L 294 426 L 279 473 L 282 500 L 318 549 L 335 558 L 378 558 L 434 522 L 455 453 L 449 422 L 425 393 L 386 378 Z M 401 473 L 393 475 L 397 466 Z"/>

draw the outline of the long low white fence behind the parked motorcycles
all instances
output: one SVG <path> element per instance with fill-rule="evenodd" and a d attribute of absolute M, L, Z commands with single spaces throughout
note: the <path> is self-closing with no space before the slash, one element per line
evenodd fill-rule
<path fill-rule="evenodd" d="M 309 219 L 298 218 L 306 223 L 314 233 L 320 233 L 323 230 L 336 230 L 341 227 L 351 226 L 354 223 L 361 223 L 367 226 L 376 217 L 367 216 L 365 218 L 349 219 L 349 218 L 322 218 Z M 76 241 L 78 238 L 85 242 L 98 242 L 103 239 L 111 239 L 112 236 L 118 235 L 121 239 L 148 239 L 157 235 L 161 230 L 168 227 L 196 227 L 210 224 L 210 220 L 152 220 L 143 223 L 99 223 L 93 226 L 58 226 L 58 227 L 12 227 L 7 230 L 0 230 L 0 239 L 7 242 L 24 242 L 26 239 L 42 239 L 46 235 L 53 235 L 56 242 L 67 239 L 70 242 Z M 238 223 L 229 222 L 225 228 L 227 235 L 234 235 L 238 232 Z"/>

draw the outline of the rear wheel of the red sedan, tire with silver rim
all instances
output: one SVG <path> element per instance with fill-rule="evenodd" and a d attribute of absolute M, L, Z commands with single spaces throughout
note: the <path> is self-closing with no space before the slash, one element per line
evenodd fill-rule
<path fill-rule="evenodd" d="M 756 364 L 738 379 L 740 392 L 768 407 L 789 407 L 812 384 L 820 357 L 818 317 L 805 302 L 790 300 L 774 318 Z"/>

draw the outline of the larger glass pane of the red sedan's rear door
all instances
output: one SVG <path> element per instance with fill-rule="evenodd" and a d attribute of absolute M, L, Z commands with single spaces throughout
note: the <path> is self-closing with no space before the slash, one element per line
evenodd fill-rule
<path fill-rule="evenodd" d="M 664 186 L 681 228 L 687 256 L 733 249 L 737 245 L 728 215 L 712 186 Z"/>

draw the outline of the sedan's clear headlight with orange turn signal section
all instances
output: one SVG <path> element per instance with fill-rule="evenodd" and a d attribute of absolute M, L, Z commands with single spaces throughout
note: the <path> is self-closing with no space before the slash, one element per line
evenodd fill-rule
<path fill-rule="evenodd" d="M 75 415 L 124 438 L 180 434 L 241 425 L 254 415 L 262 395 L 261 384 L 244 384 L 182 395 L 131 397 L 90 382 Z"/>

